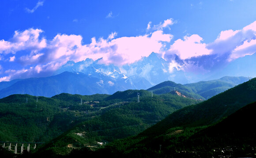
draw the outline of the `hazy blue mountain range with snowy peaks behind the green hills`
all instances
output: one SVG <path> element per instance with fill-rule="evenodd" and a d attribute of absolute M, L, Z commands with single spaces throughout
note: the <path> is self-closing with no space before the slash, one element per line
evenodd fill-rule
<path fill-rule="evenodd" d="M 173 81 L 175 83 L 196 83 L 204 80 L 212 80 L 225 75 L 237 76 L 236 72 L 243 72 L 244 76 L 253 76 L 255 71 L 256 55 L 252 55 L 250 60 L 245 56 L 230 62 L 225 67 L 224 72 L 204 74 L 189 74 L 179 68 L 177 65 L 173 67 L 170 62 L 159 57 L 156 53 L 151 53 L 148 57 L 142 57 L 139 61 L 130 65 L 104 65 L 98 60 L 87 58 L 85 61 L 74 62 L 68 61 L 60 67 L 55 75 L 43 78 L 16 79 L 9 82 L 0 83 L 0 97 L 6 97 L 16 93 L 27 93 L 30 95 L 38 95 L 52 97 L 59 93 L 72 93 L 90 95 L 95 93 L 113 94 L 117 91 L 128 89 L 148 89 L 164 81 Z M 248 71 L 241 71 L 241 60 L 248 61 L 252 65 Z M 244 63 L 244 62 L 242 62 Z M 227 71 L 228 70 L 228 71 Z M 239 70 L 239 71 L 236 71 Z M 249 74 L 249 72 L 251 74 Z M 202 77 L 204 75 L 204 78 Z M 211 76 L 207 79 L 207 77 Z M 200 77 L 200 80 L 198 78 Z"/>

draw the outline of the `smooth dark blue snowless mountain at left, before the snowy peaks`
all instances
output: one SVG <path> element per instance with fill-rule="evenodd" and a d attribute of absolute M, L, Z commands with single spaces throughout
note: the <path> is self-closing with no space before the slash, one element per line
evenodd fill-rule
<path fill-rule="evenodd" d="M 0 91 L 0 97 L 11 94 L 27 93 L 35 96 L 52 97 L 59 93 L 90 94 L 94 92 L 107 93 L 102 89 L 99 79 L 84 74 L 64 72 L 45 78 L 30 78 L 16 82 Z M 91 85 L 91 86 L 90 86 Z M 93 87 L 92 87 L 93 86 Z"/>

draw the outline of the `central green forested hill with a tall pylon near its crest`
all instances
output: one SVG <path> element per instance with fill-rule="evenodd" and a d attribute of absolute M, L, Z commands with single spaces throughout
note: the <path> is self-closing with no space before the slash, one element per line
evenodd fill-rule
<path fill-rule="evenodd" d="M 139 103 L 138 92 L 141 94 Z M 103 103 L 94 103 L 93 107 L 100 109 L 91 119 L 51 141 L 44 151 L 67 154 L 84 146 L 95 149 L 99 146 L 97 142 L 137 135 L 173 111 L 200 101 L 171 94 L 154 95 L 152 98 L 146 90 L 127 90 L 114 93 L 102 102 L 104 107 L 101 106 Z"/>

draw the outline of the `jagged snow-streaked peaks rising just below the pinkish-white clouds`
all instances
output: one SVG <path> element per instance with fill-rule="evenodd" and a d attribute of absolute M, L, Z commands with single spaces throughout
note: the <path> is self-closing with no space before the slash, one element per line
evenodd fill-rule
<path fill-rule="evenodd" d="M 169 63 L 161 57 L 158 57 L 158 54 L 154 52 L 135 63 L 121 67 L 99 64 L 101 60 L 102 58 L 96 61 L 87 58 L 85 61 L 76 63 L 74 61 L 68 61 L 56 71 L 56 74 L 66 71 L 73 73 L 82 72 L 96 78 L 99 74 L 105 75 L 117 82 L 126 79 L 126 83 L 134 85 L 131 86 L 130 89 L 149 88 L 150 86 L 154 86 L 166 80 L 172 80 L 176 83 L 188 83 L 183 71 L 178 71 L 176 68 L 173 68 L 170 72 Z M 143 82 L 135 86 L 135 83 L 139 81 Z"/>

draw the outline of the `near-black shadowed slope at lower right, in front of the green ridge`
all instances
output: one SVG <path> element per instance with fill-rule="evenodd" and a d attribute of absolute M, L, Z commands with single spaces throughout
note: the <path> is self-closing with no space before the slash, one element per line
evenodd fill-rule
<path fill-rule="evenodd" d="M 248 104 L 214 126 L 203 129 L 190 139 L 194 144 L 211 147 L 237 146 L 241 144 L 255 145 L 256 127 L 255 121 L 256 102 Z M 202 141 L 202 138 L 207 138 Z M 211 143 L 210 143 L 211 142 Z"/>

